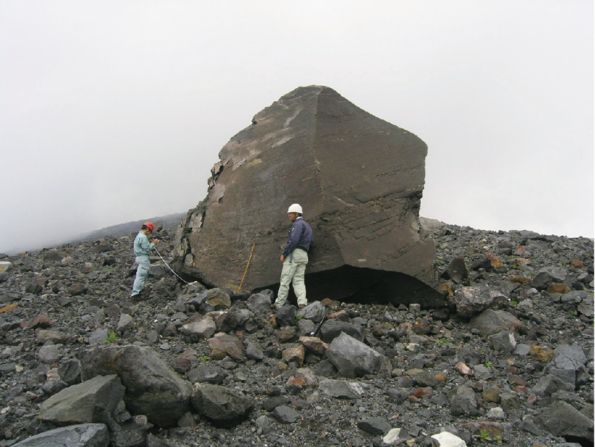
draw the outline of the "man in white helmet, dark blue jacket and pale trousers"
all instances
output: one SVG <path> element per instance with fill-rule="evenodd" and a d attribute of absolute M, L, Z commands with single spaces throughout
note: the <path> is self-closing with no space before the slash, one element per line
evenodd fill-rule
<path fill-rule="evenodd" d="M 281 271 L 279 293 L 272 306 L 273 308 L 285 305 L 289 293 L 289 284 L 293 284 L 293 291 L 298 299 L 298 307 L 301 309 L 308 304 L 304 276 L 308 264 L 308 251 L 310 251 L 314 239 L 312 237 L 312 228 L 303 219 L 302 214 L 302 207 L 297 203 L 291 205 L 287 210 L 287 215 L 293 225 L 289 230 L 287 245 L 280 258 L 283 263 L 283 270 Z"/>

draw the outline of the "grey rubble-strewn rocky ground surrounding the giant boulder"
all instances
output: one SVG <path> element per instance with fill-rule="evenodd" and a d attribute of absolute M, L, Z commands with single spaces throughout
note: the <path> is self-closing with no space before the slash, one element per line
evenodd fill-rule
<path fill-rule="evenodd" d="M 106 347 L 136 349 L 140 375 L 156 353 L 192 394 L 179 418 L 165 402 L 144 412 L 116 368 L 128 409 L 93 421 L 112 445 L 431 446 L 442 432 L 593 445 L 593 240 L 428 228 L 443 309 L 327 300 L 271 314 L 267 293 L 186 285 L 158 257 L 131 302 L 134 235 L 0 255 L 0 446 L 61 425 L 40 412 L 98 374 L 88 356 Z M 173 230 L 156 236 L 167 259 Z M 116 436 L 132 420 L 137 436 Z"/>

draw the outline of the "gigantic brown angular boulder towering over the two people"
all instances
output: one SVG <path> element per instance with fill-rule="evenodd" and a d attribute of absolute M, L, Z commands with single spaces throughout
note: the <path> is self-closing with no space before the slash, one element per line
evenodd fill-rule
<path fill-rule="evenodd" d="M 442 305 L 435 245 L 420 229 L 426 144 L 328 87 L 301 87 L 258 113 L 219 153 L 206 199 L 176 236 L 178 270 L 207 285 L 276 289 L 300 203 L 314 231 L 310 300 Z"/>

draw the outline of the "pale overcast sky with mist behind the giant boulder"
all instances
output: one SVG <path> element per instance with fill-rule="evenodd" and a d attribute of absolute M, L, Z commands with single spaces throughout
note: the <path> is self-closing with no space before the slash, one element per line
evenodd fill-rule
<path fill-rule="evenodd" d="M 0 2 L 0 252 L 207 193 L 326 85 L 429 147 L 421 215 L 593 237 L 592 0 Z"/>

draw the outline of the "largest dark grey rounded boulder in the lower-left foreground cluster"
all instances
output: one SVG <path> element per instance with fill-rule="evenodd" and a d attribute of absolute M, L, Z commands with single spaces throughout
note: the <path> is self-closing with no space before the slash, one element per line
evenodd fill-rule
<path fill-rule="evenodd" d="M 190 410 L 191 385 L 151 348 L 109 346 L 81 356 L 84 380 L 117 374 L 126 388 L 124 401 L 133 414 L 144 414 L 159 427 L 173 427 Z"/>

